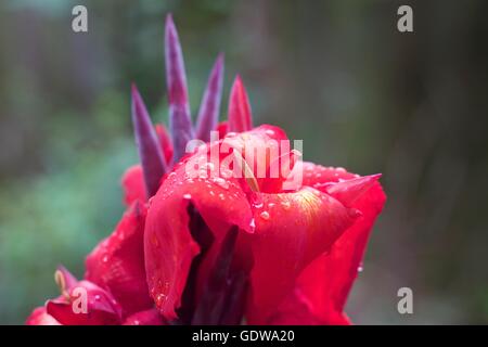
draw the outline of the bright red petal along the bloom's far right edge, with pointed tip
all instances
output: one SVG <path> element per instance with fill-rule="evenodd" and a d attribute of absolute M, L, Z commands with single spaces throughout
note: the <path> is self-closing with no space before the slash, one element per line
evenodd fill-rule
<path fill-rule="evenodd" d="M 386 196 L 375 176 L 360 178 L 342 168 L 326 168 L 311 163 L 304 163 L 304 183 L 324 192 L 334 187 L 330 183 L 341 180 L 331 192 L 346 205 L 359 192 L 350 206 L 361 215 L 338 237 L 329 253 L 322 254 L 300 273 L 294 292 L 299 293 L 299 296 L 290 295 L 281 304 L 273 322 L 279 324 L 282 319 L 286 319 L 286 307 L 300 306 L 305 300 L 307 310 L 317 324 L 348 324 L 349 320 L 343 312 L 344 306 L 358 275 L 369 234 Z M 364 184 L 369 189 L 364 190 Z"/>

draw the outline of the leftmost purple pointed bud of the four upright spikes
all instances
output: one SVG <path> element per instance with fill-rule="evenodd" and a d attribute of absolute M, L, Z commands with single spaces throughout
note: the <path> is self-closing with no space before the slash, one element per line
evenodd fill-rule
<path fill-rule="evenodd" d="M 166 163 L 147 110 L 136 85 L 132 85 L 132 123 L 144 174 L 146 196 L 151 197 L 159 188 L 163 175 L 166 172 Z"/>

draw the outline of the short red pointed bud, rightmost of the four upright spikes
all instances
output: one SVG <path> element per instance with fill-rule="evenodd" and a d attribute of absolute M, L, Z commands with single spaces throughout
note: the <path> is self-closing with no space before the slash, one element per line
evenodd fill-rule
<path fill-rule="evenodd" d="M 242 132 L 253 128 L 253 115 L 249 99 L 242 82 L 236 76 L 229 99 L 229 131 Z"/>

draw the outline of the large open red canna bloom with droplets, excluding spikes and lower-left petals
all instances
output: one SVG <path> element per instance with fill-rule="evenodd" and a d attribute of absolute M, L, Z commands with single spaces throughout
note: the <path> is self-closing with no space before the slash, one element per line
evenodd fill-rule
<path fill-rule="evenodd" d="M 246 149 L 262 147 L 267 140 L 283 138 L 281 129 L 261 126 L 233 139 Z M 312 305 L 307 307 L 311 310 L 309 322 L 312 318 L 323 323 L 345 322 L 333 318 L 342 317 L 369 230 L 384 203 L 378 176 L 358 177 L 343 169 L 298 162 L 297 166 L 304 166 L 305 178 L 294 191 L 283 190 L 270 182 L 272 179 L 258 181 L 256 172 L 251 178 L 235 178 L 214 165 L 207 165 L 202 177 L 190 176 L 188 164 L 206 163 L 213 145 L 205 145 L 204 151 L 201 149 L 178 164 L 147 211 L 147 282 L 162 313 L 167 319 L 178 317 L 176 310 L 185 305 L 182 298 L 189 275 L 195 275 L 191 285 L 195 286 L 196 303 L 204 300 L 205 295 L 233 294 L 227 287 L 208 293 L 208 287 L 213 272 L 221 266 L 218 255 L 223 240 L 235 227 L 239 235 L 228 275 L 235 272 L 248 278 L 249 297 L 241 300 L 246 301 L 249 323 L 279 321 L 279 313 L 286 306 L 304 300 Z M 246 150 L 241 156 L 244 160 L 249 157 Z M 200 241 L 205 234 L 210 234 L 206 237 L 210 239 L 209 245 L 208 241 Z M 195 259 L 197 270 L 192 274 Z M 294 293 L 299 297 L 287 298 Z"/>

